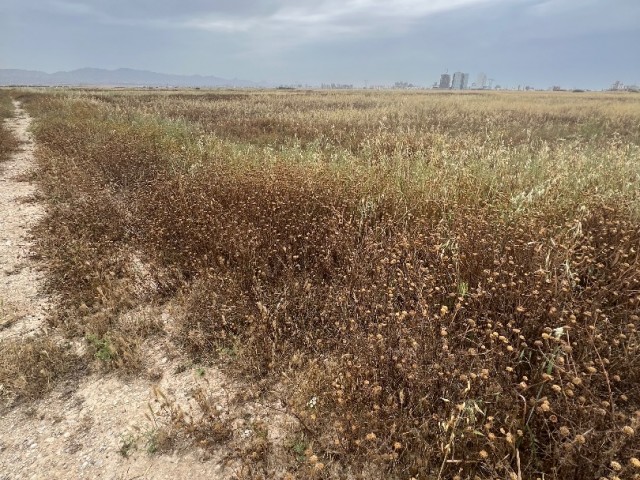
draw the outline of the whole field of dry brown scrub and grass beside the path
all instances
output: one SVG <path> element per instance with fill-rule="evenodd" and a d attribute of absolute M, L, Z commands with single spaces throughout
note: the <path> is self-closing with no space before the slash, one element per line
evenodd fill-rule
<path fill-rule="evenodd" d="M 19 95 L 51 326 L 111 368 L 277 386 L 299 478 L 640 478 L 639 97 Z"/>

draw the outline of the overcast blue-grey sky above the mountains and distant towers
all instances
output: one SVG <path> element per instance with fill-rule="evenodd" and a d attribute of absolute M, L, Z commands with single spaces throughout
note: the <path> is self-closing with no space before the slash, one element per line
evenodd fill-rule
<path fill-rule="evenodd" d="M 640 0 L 0 0 L 0 68 L 271 84 L 640 84 Z"/>

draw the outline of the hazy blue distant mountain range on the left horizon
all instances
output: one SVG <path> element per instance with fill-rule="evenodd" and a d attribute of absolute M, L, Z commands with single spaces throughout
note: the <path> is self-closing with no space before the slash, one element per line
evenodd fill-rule
<path fill-rule="evenodd" d="M 170 75 L 166 73 L 119 68 L 81 68 L 70 72 L 46 73 L 37 70 L 0 69 L 0 85 L 45 86 L 127 86 L 127 87 L 264 87 L 247 80 L 202 75 Z"/>

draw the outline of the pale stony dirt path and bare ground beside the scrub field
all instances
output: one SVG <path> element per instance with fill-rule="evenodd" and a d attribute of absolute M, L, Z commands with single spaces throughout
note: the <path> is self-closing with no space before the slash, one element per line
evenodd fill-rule
<path fill-rule="evenodd" d="M 34 167 L 30 118 L 15 106 L 9 124 L 22 148 L 0 169 L 0 318 L 9 319 L 0 329 L 0 348 L 12 339 L 45 334 L 41 327 L 51 303 L 41 293 L 43 275 L 30 254 L 29 228 L 44 214 L 25 175 Z M 143 308 L 136 314 L 171 322 L 167 311 Z M 96 367 L 38 402 L 0 406 L 0 480 L 242 478 L 242 457 L 251 454 L 256 441 L 258 447 L 267 441 L 269 451 L 281 454 L 292 421 L 273 413 L 281 408 L 277 402 L 269 409 L 247 402 L 238 395 L 243 388 L 219 369 L 199 368 L 170 352 L 168 344 L 150 343 L 144 368 L 133 378 Z M 178 444 L 156 453 L 166 418 L 148 418 L 149 405 L 157 406 L 154 387 L 187 412 L 195 406 L 192 392 L 205 392 L 219 418 L 232 426 L 231 440 L 207 450 Z"/>

